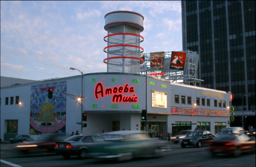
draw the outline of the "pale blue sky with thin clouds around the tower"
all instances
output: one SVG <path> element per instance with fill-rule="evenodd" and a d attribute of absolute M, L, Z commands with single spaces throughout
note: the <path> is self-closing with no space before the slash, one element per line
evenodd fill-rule
<path fill-rule="evenodd" d="M 144 16 L 144 53 L 182 50 L 181 1 L 1 1 L 1 76 L 44 80 L 106 72 L 106 13 Z"/>

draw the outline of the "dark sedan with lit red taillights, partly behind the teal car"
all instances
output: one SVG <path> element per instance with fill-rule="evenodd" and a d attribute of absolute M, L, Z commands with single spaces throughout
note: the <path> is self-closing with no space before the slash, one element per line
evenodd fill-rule
<path fill-rule="evenodd" d="M 68 159 L 76 155 L 81 159 L 89 157 L 89 153 L 99 152 L 97 145 L 105 140 L 97 135 L 74 135 L 63 141 L 56 141 L 54 151 Z"/>

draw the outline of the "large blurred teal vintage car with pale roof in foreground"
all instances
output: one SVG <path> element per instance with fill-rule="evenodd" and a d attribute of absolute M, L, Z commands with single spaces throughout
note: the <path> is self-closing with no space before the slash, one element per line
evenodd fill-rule
<path fill-rule="evenodd" d="M 152 139 L 144 131 L 114 131 L 102 134 L 107 141 L 99 145 L 100 159 L 130 160 L 134 157 L 164 156 L 170 151 L 167 141 Z"/>

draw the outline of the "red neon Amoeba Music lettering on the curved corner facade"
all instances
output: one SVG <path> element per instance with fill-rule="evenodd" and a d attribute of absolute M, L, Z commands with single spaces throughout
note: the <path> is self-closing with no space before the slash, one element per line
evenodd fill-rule
<path fill-rule="evenodd" d="M 101 82 L 97 83 L 94 90 L 95 99 L 99 100 L 100 97 L 113 95 L 112 103 L 137 103 L 138 97 L 135 94 L 132 96 L 124 96 L 123 93 L 134 93 L 135 89 L 133 86 L 129 87 L 129 84 L 125 86 L 115 86 L 113 88 L 106 88 L 104 90 L 103 84 Z M 100 97 L 99 97 L 100 96 Z"/>

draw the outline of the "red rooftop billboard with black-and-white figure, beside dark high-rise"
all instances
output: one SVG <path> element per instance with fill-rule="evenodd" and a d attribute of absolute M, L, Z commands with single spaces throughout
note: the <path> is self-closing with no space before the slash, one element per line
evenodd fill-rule
<path fill-rule="evenodd" d="M 170 69 L 184 70 L 186 56 L 187 56 L 186 52 L 172 52 Z"/>

